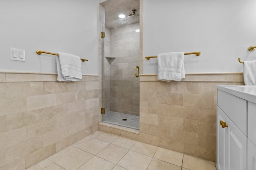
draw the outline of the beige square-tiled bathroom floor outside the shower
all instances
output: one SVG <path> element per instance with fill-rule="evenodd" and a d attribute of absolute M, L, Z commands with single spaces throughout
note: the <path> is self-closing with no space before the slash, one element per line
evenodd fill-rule
<path fill-rule="evenodd" d="M 101 131 L 28 170 L 216 170 L 214 162 Z"/>

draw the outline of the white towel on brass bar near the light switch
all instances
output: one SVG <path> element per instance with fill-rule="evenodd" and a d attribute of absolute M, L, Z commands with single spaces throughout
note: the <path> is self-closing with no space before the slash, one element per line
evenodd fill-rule
<path fill-rule="evenodd" d="M 58 53 L 56 57 L 58 81 L 80 81 L 82 80 L 82 69 L 80 57 Z"/>

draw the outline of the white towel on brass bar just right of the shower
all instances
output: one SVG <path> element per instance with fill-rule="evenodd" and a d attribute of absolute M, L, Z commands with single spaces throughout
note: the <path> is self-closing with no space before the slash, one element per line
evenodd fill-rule
<path fill-rule="evenodd" d="M 185 78 L 184 52 L 161 53 L 157 55 L 158 75 L 161 81 L 181 81 Z"/>

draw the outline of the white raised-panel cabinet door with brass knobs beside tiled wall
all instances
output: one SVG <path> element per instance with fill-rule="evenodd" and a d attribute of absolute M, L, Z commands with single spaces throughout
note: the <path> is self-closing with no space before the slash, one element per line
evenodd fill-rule
<path fill-rule="evenodd" d="M 221 120 L 222 119 L 222 120 Z M 222 128 L 220 121 L 228 127 Z M 218 107 L 218 170 L 246 170 L 247 138 Z M 223 139 L 222 139 L 223 138 Z M 224 153 L 223 153 L 224 152 Z"/>

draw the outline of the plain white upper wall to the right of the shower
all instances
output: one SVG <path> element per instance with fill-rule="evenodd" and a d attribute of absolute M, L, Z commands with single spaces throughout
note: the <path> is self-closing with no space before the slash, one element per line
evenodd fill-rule
<path fill-rule="evenodd" d="M 185 55 L 186 73 L 243 71 L 238 57 L 256 60 L 255 0 L 144 0 L 143 58 L 171 51 Z M 157 73 L 156 58 L 143 73 Z"/>

